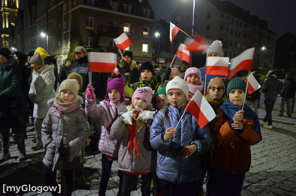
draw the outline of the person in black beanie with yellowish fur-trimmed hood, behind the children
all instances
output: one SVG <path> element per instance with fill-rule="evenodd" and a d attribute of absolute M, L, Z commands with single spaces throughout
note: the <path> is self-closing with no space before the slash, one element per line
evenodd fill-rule
<path fill-rule="evenodd" d="M 130 78 L 131 84 L 139 82 L 140 74 L 139 70 L 136 69 L 137 63 L 133 60 L 133 52 L 129 50 L 124 52 L 117 68 L 123 76 Z M 126 73 L 129 73 L 129 76 L 125 75 Z M 120 78 L 121 76 L 118 77 Z"/>

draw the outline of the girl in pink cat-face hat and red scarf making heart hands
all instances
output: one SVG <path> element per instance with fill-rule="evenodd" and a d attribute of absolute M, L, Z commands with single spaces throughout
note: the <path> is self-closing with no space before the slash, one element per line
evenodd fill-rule
<path fill-rule="evenodd" d="M 149 128 L 155 112 L 148 111 L 152 99 L 150 87 L 137 88 L 128 112 L 120 115 L 111 127 L 111 136 L 122 139 L 118 154 L 118 169 L 123 173 L 121 196 L 131 194 L 136 176 L 141 175 L 143 196 L 150 196 L 152 172 L 155 172 L 156 152 L 149 143 Z"/>

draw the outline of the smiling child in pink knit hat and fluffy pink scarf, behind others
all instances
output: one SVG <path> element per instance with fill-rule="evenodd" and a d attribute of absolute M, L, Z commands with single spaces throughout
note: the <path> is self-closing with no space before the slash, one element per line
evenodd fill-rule
<path fill-rule="evenodd" d="M 185 72 L 184 80 L 187 82 L 189 87 L 188 99 L 191 99 L 197 90 L 204 94 L 205 83 L 202 82 L 202 77 L 200 75 L 199 69 L 188 68 Z"/>

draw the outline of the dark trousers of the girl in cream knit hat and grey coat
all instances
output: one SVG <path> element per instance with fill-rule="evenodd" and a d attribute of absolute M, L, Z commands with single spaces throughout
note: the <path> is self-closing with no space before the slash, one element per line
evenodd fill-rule
<path fill-rule="evenodd" d="M 46 182 L 47 186 L 49 187 L 58 187 L 57 181 L 56 181 L 56 173 L 57 170 L 52 171 L 48 167 L 44 166 L 42 177 L 44 181 Z M 71 196 L 73 189 L 74 189 L 74 180 L 73 180 L 73 173 L 74 169 L 67 169 L 64 170 L 64 195 L 65 196 Z M 57 188 L 56 191 L 51 191 L 52 195 L 59 195 L 58 194 L 59 189 Z"/>

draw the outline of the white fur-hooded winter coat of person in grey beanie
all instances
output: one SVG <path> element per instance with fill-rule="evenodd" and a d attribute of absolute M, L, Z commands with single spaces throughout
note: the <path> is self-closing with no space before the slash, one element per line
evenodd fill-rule
<path fill-rule="evenodd" d="M 34 103 L 34 118 L 46 117 L 50 108 L 47 101 L 55 97 L 54 81 L 54 65 L 44 65 L 37 71 L 33 71 L 29 98 Z"/>

